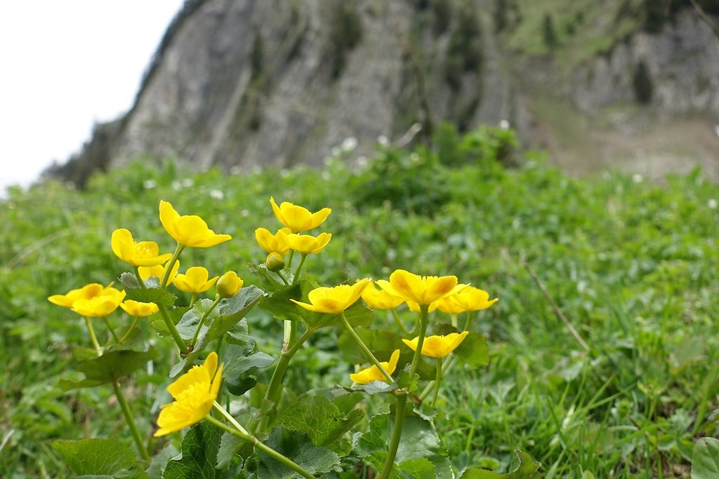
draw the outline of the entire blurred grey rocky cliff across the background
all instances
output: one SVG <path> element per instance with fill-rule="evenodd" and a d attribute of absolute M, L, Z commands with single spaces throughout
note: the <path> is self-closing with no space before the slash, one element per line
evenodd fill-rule
<path fill-rule="evenodd" d="M 530 28 L 536 3 L 506 1 L 515 25 L 502 19 L 501 28 L 501 0 L 186 1 L 132 110 L 55 172 L 83 182 L 88 164 L 137 157 L 196 169 L 316 165 L 348 137 L 360 157 L 380 135 L 398 139 L 418 124 L 418 136 L 429 138 L 441 120 L 460 129 L 508 120 L 531 145 L 544 121 L 528 101 L 537 85 L 551 85 L 578 111 L 638 100 L 672 113 L 719 113 L 719 40 L 694 11 L 652 33 L 641 22 L 627 31 L 625 22 L 620 40 L 575 60 L 567 74 L 554 44 L 573 51 L 582 37 L 565 25 L 559 39 L 544 32 L 546 50 L 523 52 L 508 35 Z M 577 8 L 546 3 L 562 1 L 567 9 L 555 11 Z M 627 3 L 608 2 L 617 18 Z M 572 19 L 587 22 L 585 13 Z M 542 42 L 541 32 L 534 36 Z M 638 98 L 638 75 L 648 98 Z"/>

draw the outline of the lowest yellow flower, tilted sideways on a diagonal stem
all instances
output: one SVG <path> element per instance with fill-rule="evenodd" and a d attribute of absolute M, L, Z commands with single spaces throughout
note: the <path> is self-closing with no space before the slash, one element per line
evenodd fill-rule
<path fill-rule="evenodd" d="M 162 406 L 155 437 L 197 424 L 209 413 L 220 389 L 222 366 L 217 367 L 217 353 L 212 351 L 202 366 L 193 366 L 168 386 L 175 401 Z"/>

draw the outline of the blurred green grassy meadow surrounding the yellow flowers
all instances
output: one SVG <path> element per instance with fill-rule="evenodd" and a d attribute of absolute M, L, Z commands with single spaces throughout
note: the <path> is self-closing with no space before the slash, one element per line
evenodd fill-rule
<path fill-rule="evenodd" d="M 270 195 L 333 208 L 325 227 L 332 241 L 307 264 L 327 285 L 404 268 L 456 274 L 500 298 L 471 326 L 489 340 L 490 366 L 454 368 L 439 398 L 445 412 L 436 426 L 458 470 L 507 470 L 521 449 L 542 463 L 546 478 L 688 473 L 695 440 L 717 434 L 719 210 L 709 205 L 719 187 L 700 172 L 659 186 L 613 174 L 578 179 L 536 162 L 448 169 L 419 157 L 395 171 L 404 175 L 395 180 L 418 186 L 409 189 L 418 196 L 441 191 L 431 205 L 398 197 L 383 203 L 372 167 L 357 174 L 336 162 L 322 171 L 241 175 L 133 164 L 94 177 L 86 191 L 56 182 L 10 191 L 0 208 L 0 434 L 12 435 L 0 451 L 0 476 L 66 477 L 50 448 L 59 438 L 122 437 L 132 447 L 109 388 L 58 387 L 75 363 L 73 348 L 87 339 L 78 317 L 45 298 L 109 283 L 124 271 L 109 246 L 115 228 L 170 249 L 157 218 L 160 199 L 233 236 L 223 246 L 189 250 L 183 269 L 234 269 L 252 283 L 247 264 L 264 260 L 253 231 L 277 225 Z M 224 198 L 214 199 L 213 190 Z M 426 215 L 412 213 L 418 204 Z M 260 349 L 276 353 L 281 327 L 262 312 L 249 323 Z M 170 348 L 162 339 L 157 345 L 165 355 L 155 371 L 124 384 L 148 437 L 167 383 Z M 313 341 L 290 366 L 290 383 L 347 383 L 352 366 L 335 352 L 334 332 Z"/>

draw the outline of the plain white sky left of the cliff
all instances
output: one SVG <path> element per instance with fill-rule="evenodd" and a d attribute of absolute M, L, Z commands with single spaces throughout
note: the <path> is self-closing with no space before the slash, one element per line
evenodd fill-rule
<path fill-rule="evenodd" d="M 183 0 L 0 4 L 0 192 L 65 162 L 132 106 Z M 0 195 L 1 196 L 1 195 Z"/>

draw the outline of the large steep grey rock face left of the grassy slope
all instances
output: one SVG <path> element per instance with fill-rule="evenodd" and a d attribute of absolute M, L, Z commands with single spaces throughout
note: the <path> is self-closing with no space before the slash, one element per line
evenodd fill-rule
<path fill-rule="evenodd" d="M 321 164 L 351 136 L 357 154 L 370 154 L 378 136 L 401 136 L 417 121 L 426 130 L 439 118 L 472 126 L 508 118 L 509 102 L 482 102 L 481 50 L 476 65 L 446 80 L 459 10 L 448 6 L 438 19 L 414 3 L 204 1 L 162 53 L 111 161 Z M 479 11 L 462 14 L 480 24 Z"/>

